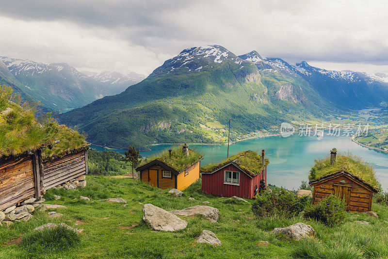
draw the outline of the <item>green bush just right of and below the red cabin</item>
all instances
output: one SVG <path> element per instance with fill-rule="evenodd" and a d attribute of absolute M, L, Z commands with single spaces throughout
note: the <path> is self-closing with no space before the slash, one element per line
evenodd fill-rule
<path fill-rule="evenodd" d="M 252 211 L 257 217 L 280 216 L 293 217 L 298 215 L 310 204 L 308 196 L 298 198 L 285 189 L 260 194 L 252 205 Z"/>

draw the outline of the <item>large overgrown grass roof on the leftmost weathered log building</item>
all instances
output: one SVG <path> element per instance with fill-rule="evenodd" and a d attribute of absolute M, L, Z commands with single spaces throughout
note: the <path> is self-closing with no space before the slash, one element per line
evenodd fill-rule
<path fill-rule="evenodd" d="M 0 158 L 39 148 L 44 158 L 51 158 L 88 146 L 83 135 L 59 125 L 51 114 L 35 117 L 36 108 L 11 87 L 0 85 Z"/>

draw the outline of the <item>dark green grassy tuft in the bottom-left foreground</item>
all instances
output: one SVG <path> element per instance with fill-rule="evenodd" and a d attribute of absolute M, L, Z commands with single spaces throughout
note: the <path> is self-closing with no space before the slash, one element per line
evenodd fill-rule
<path fill-rule="evenodd" d="M 79 234 L 64 226 L 33 231 L 23 237 L 22 244 L 30 252 L 59 252 L 81 242 Z"/>

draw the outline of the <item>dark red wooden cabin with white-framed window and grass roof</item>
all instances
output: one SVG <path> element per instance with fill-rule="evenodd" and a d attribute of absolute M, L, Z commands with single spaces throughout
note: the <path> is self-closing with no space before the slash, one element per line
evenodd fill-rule
<path fill-rule="evenodd" d="M 254 151 L 243 151 L 219 163 L 201 168 L 202 192 L 218 196 L 253 198 L 260 180 L 267 184 L 268 159 Z"/>

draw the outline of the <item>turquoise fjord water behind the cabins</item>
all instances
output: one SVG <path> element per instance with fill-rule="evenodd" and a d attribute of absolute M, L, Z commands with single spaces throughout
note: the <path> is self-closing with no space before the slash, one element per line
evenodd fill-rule
<path fill-rule="evenodd" d="M 142 151 L 141 154 L 143 157 L 150 156 L 170 146 L 151 146 L 151 151 Z M 102 147 L 91 147 L 104 150 Z M 205 154 L 201 165 L 226 158 L 227 146 L 189 145 L 189 147 Z M 256 138 L 230 145 L 229 154 L 233 155 L 243 150 L 253 150 L 261 154 L 261 149 L 265 149 L 265 156 L 270 160 L 268 182 L 276 186 L 296 189 L 302 180 L 307 180 L 308 171 L 311 169 L 314 159 L 326 156 L 333 147 L 336 147 L 339 152 L 351 151 L 371 162 L 377 171 L 377 179 L 381 182 L 383 189 L 387 191 L 388 154 L 359 146 L 347 136 L 324 135 L 321 139 L 296 135 L 288 138 L 281 136 Z M 123 154 L 126 150 L 115 151 Z"/>

